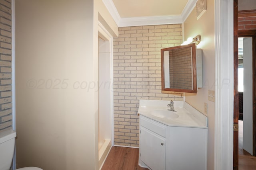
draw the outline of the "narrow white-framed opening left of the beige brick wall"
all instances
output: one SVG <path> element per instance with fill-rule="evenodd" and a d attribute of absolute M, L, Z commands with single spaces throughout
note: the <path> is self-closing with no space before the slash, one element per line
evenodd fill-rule
<path fill-rule="evenodd" d="M 100 168 L 113 146 L 112 37 L 98 27 L 98 157 Z"/>

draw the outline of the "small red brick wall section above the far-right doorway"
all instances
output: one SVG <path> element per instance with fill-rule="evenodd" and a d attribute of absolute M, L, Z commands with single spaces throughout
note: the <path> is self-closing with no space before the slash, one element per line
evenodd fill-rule
<path fill-rule="evenodd" d="M 256 29 L 256 16 L 238 17 L 238 30 Z"/>

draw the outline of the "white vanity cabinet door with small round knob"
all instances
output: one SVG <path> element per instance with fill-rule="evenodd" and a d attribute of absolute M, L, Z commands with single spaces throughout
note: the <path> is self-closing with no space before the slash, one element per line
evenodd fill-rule
<path fill-rule="evenodd" d="M 140 159 L 152 170 L 165 170 L 166 139 L 140 127 Z"/>

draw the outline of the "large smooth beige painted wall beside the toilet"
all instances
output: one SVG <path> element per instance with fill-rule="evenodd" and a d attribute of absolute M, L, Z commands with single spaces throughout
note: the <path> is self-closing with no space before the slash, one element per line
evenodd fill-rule
<path fill-rule="evenodd" d="M 17 168 L 97 170 L 102 2 L 15 2 Z M 115 35 L 110 14 L 100 12 Z"/>

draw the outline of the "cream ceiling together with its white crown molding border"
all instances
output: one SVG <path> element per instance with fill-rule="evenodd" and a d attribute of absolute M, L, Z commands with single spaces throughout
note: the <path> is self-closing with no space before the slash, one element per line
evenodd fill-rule
<path fill-rule="evenodd" d="M 183 23 L 197 0 L 102 0 L 118 27 Z"/>

